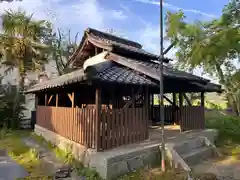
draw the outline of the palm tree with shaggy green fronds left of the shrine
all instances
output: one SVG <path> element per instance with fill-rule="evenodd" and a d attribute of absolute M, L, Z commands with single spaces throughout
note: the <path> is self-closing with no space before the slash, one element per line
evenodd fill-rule
<path fill-rule="evenodd" d="M 17 68 L 18 85 L 24 90 L 24 79 L 29 71 L 42 70 L 47 62 L 48 37 L 51 25 L 36 21 L 24 11 L 6 11 L 2 16 L 3 34 L 0 34 L 1 63 Z"/>

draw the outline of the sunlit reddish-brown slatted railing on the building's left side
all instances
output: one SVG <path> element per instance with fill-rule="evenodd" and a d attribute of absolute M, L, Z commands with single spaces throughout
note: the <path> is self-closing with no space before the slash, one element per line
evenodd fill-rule
<path fill-rule="evenodd" d="M 37 107 L 37 125 L 88 148 L 95 148 L 95 109 Z"/>

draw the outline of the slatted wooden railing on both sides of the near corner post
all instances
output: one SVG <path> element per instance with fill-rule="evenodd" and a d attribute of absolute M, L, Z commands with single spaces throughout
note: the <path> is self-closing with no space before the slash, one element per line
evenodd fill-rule
<path fill-rule="evenodd" d="M 37 125 L 100 151 L 148 138 L 147 119 L 144 108 L 102 109 L 96 137 L 94 108 L 37 107 Z"/>

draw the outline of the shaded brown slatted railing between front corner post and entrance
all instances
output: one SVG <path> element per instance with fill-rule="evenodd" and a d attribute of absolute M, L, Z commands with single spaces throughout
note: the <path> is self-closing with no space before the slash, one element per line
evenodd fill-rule
<path fill-rule="evenodd" d="M 100 149 L 111 149 L 148 138 L 148 117 L 144 108 L 103 111 Z"/>

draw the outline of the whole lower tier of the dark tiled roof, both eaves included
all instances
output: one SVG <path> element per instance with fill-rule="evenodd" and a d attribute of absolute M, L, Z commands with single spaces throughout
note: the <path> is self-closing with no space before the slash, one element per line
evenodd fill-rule
<path fill-rule="evenodd" d="M 110 56 L 113 58 L 114 56 Z M 137 61 L 134 59 L 117 56 L 106 62 L 89 66 L 84 73 L 83 69 L 76 70 L 57 78 L 44 81 L 33 86 L 26 92 L 35 92 L 43 89 L 56 88 L 84 80 L 99 80 L 106 83 L 136 84 L 157 87 L 159 81 L 159 64 L 156 62 Z M 210 83 L 201 77 L 178 71 L 164 66 L 164 76 L 187 82 L 189 86 L 198 88 L 199 91 L 219 92 L 221 86 Z"/>

